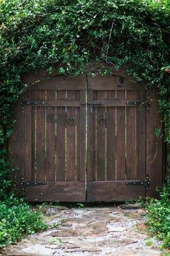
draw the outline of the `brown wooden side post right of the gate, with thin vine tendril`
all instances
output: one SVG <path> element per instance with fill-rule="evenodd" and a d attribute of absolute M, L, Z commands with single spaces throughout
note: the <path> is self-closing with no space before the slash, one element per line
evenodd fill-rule
<path fill-rule="evenodd" d="M 157 186 L 162 186 L 162 140 L 155 136 L 155 128 L 161 128 L 158 113 L 158 95 L 156 90 L 147 90 L 146 99 L 150 97 L 150 108 L 146 111 L 146 172 L 150 177 L 147 196 L 157 197 Z"/>

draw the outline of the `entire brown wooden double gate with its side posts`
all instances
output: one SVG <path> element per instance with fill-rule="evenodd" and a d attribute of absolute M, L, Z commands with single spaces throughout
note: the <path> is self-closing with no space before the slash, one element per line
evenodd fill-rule
<path fill-rule="evenodd" d="M 29 86 L 15 107 L 19 120 L 9 141 L 27 200 L 155 196 L 162 184 L 162 141 L 151 134 L 160 117 L 148 93 L 127 77 L 85 74 Z"/>

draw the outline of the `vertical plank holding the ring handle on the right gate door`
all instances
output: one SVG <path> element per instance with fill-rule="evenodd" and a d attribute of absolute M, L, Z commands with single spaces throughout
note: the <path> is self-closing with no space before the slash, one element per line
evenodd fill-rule
<path fill-rule="evenodd" d="M 105 91 L 97 91 L 97 100 L 105 99 Z M 104 120 L 104 122 L 102 121 Z M 97 180 L 105 180 L 105 108 L 97 107 Z"/>

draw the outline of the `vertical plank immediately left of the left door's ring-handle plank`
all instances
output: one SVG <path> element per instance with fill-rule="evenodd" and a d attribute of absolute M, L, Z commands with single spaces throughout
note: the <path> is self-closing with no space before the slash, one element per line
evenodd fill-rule
<path fill-rule="evenodd" d="M 57 91 L 57 99 L 65 100 L 66 91 Z M 56 180 L 65 180 L 65 107 L 56 108 Z"/>

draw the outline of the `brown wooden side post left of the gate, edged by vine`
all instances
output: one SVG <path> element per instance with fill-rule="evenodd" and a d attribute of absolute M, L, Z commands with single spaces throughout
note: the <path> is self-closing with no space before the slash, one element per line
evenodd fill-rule
<path fill-rule="evenodd" d="M 13 126 L 13 133 L 8 143 L 9 153 L 13 159 L 13 167 L 17 167 L 17 189 L 21 189 L 20 183 L 24 178 L 24 109 L 22 109 L 22 97 L 14 106 L 14 113 L 17 122 Z"/>

